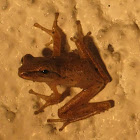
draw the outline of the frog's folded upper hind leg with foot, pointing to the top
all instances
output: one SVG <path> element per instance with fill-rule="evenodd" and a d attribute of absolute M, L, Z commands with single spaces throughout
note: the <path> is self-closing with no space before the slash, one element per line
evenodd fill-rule
<path fill-rule="evenodd" d="M 101 56 L 99 54 L 99 51 L 96 47 L 93 38 L 90 36 L 91 32 L 88 32 L 86 35 L 84 35 L 79 20 L 76 21 L 76 25 L 77 25 L 77 35 L 71 38 L 71 40 L 75 42 L 80 57 L 90 60 L 93 63 L 93 65 L 98 69 L 101 77 L 105 81 L 105 84 L 107 84 L 112 79 L 106 69 L 104 62 L 101 59 Z"/>

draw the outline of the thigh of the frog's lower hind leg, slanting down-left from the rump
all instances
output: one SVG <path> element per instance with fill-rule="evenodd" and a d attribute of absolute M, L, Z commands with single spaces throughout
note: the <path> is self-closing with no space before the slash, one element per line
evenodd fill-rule
<path fill-rule="evenodd" d="M 79 113 L 80 112 L 82 113 L 83 110 L 87 110 L 87 112 L 91 112 L 91 109 L 90 109 L 91 104 L 89 104 L 88 102 L 95 95 L 97 95 L 103 89 L 103 87 L 104 87 L 104 83 L 97 82 L 92 87 L 88 88 L 87 90 L 81 91 L 79 94 L 73 97 L 68 103 L 66 103 L 62 108 L 58 110 L 58 116 L 60 118 L 66 119 L 66 118 L 75 117 L 75 115 L 77 114 L 77 111 Z M 80 115 L 78 115 L 78 117 L 79 116 Z"/>

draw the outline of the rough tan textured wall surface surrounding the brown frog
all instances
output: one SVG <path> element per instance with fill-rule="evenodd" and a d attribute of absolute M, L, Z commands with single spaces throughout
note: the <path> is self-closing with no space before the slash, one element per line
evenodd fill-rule
<path fill-rule="evenodd" d="M 51 37 L 33 27 L 35 22 L 51 28 L 54 13 L 59 26 L 70 37 L 76 33 L 75 21 L 86 34 L 92 32 L 100 54 L 112 76 L 92 101 L 115 100 L 115 107 L 86 120 L 68 125 L 47 123 L 57 118 L 61 104 L 34 115 L 41 103 L 28 91 L 51 94 L 45 83 L 18 77 L 25 54 L 41 56 Z M 110 44 L 110 45 L 109 45 Z M 108 47 L 111 46 L 111 47 Z M 139 0 L 0 0 L 0 140 L 139 140 L 140 138 L 140 2 Z"/>

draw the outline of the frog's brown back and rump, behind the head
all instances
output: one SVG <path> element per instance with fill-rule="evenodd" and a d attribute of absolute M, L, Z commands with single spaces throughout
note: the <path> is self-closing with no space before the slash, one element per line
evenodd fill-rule
<path fill-rule="evenodd" d="M 95 66 L 87 59 L 80 59 L 78 55 L 64 56 L 61 64 L 61 75 L 66 86 L 88 88 L 103 81 Z"/>

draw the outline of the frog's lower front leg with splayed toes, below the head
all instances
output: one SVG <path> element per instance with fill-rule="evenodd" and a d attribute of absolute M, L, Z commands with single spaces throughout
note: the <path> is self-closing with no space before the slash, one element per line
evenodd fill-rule
<path fill-rule="evenodd" d="M 70 95 L 70 88 L 67 88 L 62 94 L 52 93 L 50 96 L 41 95 L 39 93 L 34 92 L 32 89 L 29 90 L 29 93 L 34 94 L 37 97 L 46 101 L 46 103 L 43 106 L 41 106 L 37 111 L 34 112 L 34 114 L 39 114 L 41 112 L 44 112 L 44 109 L 47 106 L 58 104 L 58 103 L 62 102 L 67 96 Z"/>

